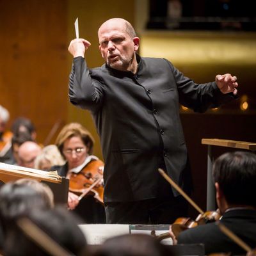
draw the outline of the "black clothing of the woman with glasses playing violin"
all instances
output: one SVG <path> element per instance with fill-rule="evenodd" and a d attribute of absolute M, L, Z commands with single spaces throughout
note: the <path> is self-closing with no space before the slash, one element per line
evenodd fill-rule
<path fill-rule="evenodd" d="M 85 166 L 86 165 L 84 165 L 84 167 Z M 68 173 L 68 163 L 61 166 L 52 166 L 51 170 L 57 170 L 58 175 L 61 177 L 66 177 Z M 81 223 L 106 223 L 104 206 L 91 195 L 82 198 L 72 212 L 79 216 Z"/>

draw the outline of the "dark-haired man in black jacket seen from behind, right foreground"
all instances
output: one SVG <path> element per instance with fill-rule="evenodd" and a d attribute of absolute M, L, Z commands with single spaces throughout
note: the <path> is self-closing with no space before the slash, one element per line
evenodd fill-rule
<path fill-rule="evenodd" d="M 256 155 L 228 152 L 216 159 L 212 175 L 216 201 L 223 214 L 220 222 L 252 248 L 256 245 Z M 172 227 L 170 227 L 172 234 Z M 175 237 L 173 237 L 175 239 Z M 178 244 L 203 243 L 205 254 L 244 250 L 223 234 L 216 223 L 190 228 L 179 234 Z"/>

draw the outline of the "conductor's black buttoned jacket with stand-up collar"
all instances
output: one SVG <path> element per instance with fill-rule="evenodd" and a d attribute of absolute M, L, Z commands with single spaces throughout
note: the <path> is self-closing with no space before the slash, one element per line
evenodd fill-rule
<path fill-rule="evenodd" d="M 168 60 L 136 58 L 135 75 L 106 64 L 89 69 L 82 57 L 74 58 L 70 74 L 70 102 L 90 110 L 100 135 L 109 223 L 119 222 L 113 214 L 120 202 L 131 205 L 149 200 L 151 205 L 152 200 L 168 200 L 170 196 L 175 200 L 173 195 L 179 194 L 175 190 L 172 193 L 159 175 L 159 166 L 185 191 L 191 190 L 179 102 L 204 112 L 233 98 L 221 93 L 215 82 L 194 83 Z M 154 203 L 148 211 L 152 208 Z M 127 207 L 123 210 L 120 216 Z M 135 215 L 132 212 L 131 216 Z M 133 222 L 127 219 L 122 223 L 125 221 Z"/>

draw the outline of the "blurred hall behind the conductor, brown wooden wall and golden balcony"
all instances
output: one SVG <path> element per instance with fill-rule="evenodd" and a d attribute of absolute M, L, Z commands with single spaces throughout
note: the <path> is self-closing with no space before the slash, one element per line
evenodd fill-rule
<path fill-rule="evenodd" d="M 195 190 L 193 199 L 205 209 L 207 146 L 202 138 L 256 142 L 256 16 L 248 0 L 0 0 L 0 105 L 35 124 L 38 141 L 49 143 L 68 122 L 92 132 L 94 154 L 102 157 L 99 137 L 88 111 L 68 102 L 72 56 L 68 44 L 79 35 L 92 43 L 90 67 L 103 64 L 97 30 L 107 19 L 131 22 L 141 38 L 141 56 L 167 58 L 196 83 L 217 74 L 238 77 L 239 99 L 204 114 L 180 106 Z M 230 148 L 214 147 L 214 156 Z M 196 214 L 191 209 L 192 216 Z"/>

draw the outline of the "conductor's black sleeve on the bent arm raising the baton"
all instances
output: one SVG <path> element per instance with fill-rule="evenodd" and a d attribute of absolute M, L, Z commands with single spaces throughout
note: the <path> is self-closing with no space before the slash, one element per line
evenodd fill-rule
<path fill-rule="evenodd" d="M 93 77 L 84 58 L 74 58 L 69 76 L 69 100 L 72 104 L 90 111 L 97 111 L 103 101 L 104 84 L 100 77 Z"/>

